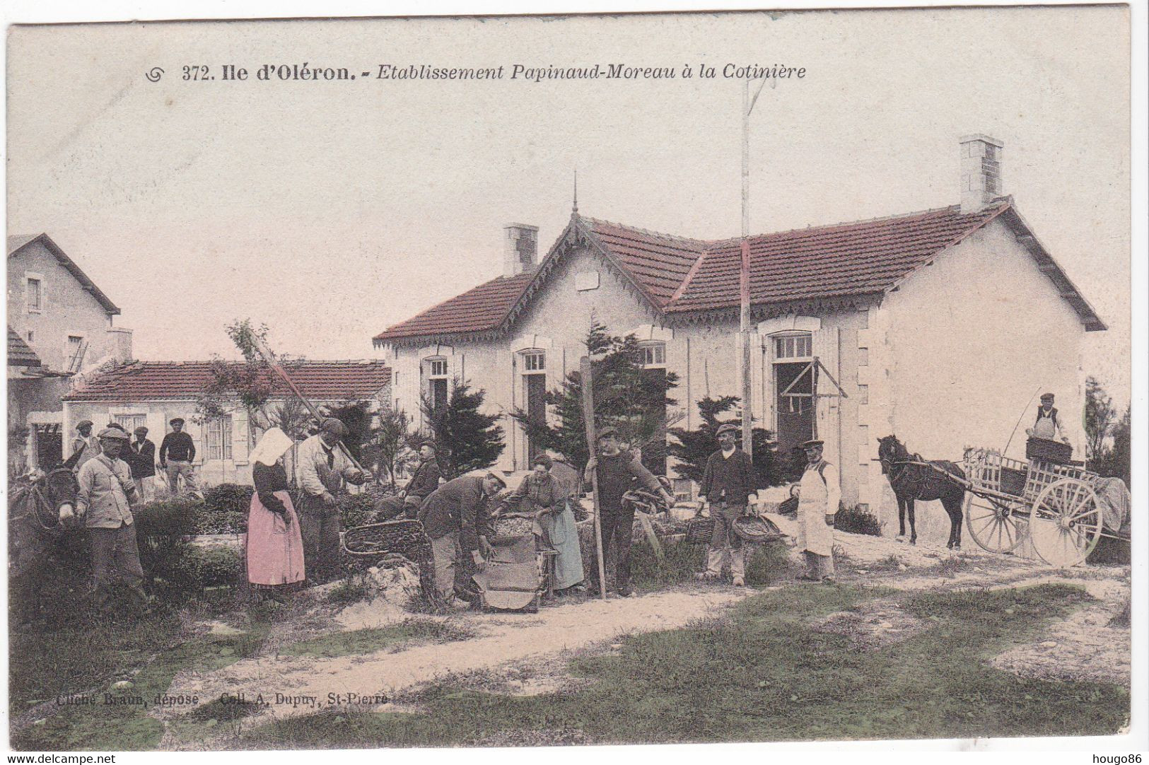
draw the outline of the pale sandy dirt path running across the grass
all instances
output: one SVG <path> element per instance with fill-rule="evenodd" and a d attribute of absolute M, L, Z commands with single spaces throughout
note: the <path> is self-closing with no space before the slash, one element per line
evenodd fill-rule
<path fill-rule="evenodd" d="M 1052 625 L 1048 634 L 1033 644 L 1003 654 L 995 659 L 995 665 L 1035 677 L 1128 682 L 1128 628 L 1105 626 L 1120 610 L 1123 598 L 1128 597 L 1127 569 L 1056 571 L 1033 561 L 981 550 L 954 554 L 946 548 L 911 547 L 892 539 L 854 534 L 839 534 L 838 543 L 841 552 L 839 581 L 842 584 L 900 590 L 989 589 L 1044 582 L 1085 587 L 1097 598 L 1095 605 Z M 793 552 L 791 573 L 800 570 L 799 561 L 799 555 Z M 793 586 L 789 578 L 777 585 L 788 586 Z M 610 650 L 611 642 L 627 633 L 681 627 L 720 613 L 755 592 L 759 590 L 680 587 L 642 597 L 589 600 L 545 608 L 535 615 L 462 612 L 435 618 L 454 620 L 472 632 L 475 638 L 470 640 L 338 658 L 279 656 L 276 650 L 284 644 L 280 639 L 271 641 L 260 656 L 225 670 L 179 675 L 169 694 L 195 694 L 205 702 L 219 698 L 221 694 L 242 694 L 249 701 L 262 695 L 268 705 L 245 720 L 244 727 L 247 727 L 272 717 L 310 714 L 327 709 L 331 693 L 378 696 L 353 709 L 400 711 L 403 708 L 391 702 L 401 701 L 412 690 L 447 677 L 453 681 L 471 678 L 488 690 L 545 693 L 562 687 L 565 658 L 577 652 Z M 360 604 L 331 626 L 334 631 L 383 626 L 404 616 L 410 615 L 393 605 Z M 872 625 L 865 632 L 890 633 L 865 638 L 877 644 L 901 640 L 915 632 L 913 625 L 900 623 L 896 613 L 879 611 L 863 616 L 865 623 Z M 848 617 L 854 618 L 853 615 Z M 825 628 L 853 627 L 831 620 Z M 292 628 L 285 625 L 277 632 L 286 638 Z M 1075 667 L 1081 671 L 1077 672 Z M 168 739 L 165 744 L 178 747 Z"/>

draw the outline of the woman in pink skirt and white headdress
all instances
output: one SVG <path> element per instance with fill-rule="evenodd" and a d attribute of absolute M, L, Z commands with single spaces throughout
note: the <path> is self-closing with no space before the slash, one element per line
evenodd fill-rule
<path fill-rule="evenodd" d="M 264 597 L 285 602 L 303 581 L 303 541 L 299 518 L 287 495 L 283 456 L 292 440 L 278 427 L 252 451 L 255 494 L 247 516 L 247 580 Z"/>

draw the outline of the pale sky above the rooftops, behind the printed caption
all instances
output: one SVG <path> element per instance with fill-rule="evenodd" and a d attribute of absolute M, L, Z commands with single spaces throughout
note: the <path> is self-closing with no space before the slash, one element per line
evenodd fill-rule
<path fill-rule="evenodd" d="M 1128 31 L 1119 7 L 14 28 L 8 232 L 74 257 L 139 358 L 233 356 L 224 327 L 245 317 L 282 353 L 373 357 L 372 335 L 500 275 L 504 225 L 538 225 L 545 253 L 576 170 L 585 215 L 737 235 L 741 82 L 723 67 L 801 67 L 751 115 L 751 232 L 956 203 L 958 138 L 993 136 L 1004 192 L 1110 326 L 1082 366 L 1121 402 Z M 256 79 L 304 62 L 357 79 Z M 375 78 L 412 63 L 678 76 Z M 215 79 L 184 80 L 195 64 Z"/>

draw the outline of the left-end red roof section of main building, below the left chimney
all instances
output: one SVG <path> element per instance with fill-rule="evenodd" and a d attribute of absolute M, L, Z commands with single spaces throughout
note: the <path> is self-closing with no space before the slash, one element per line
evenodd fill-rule
<path fill-rule="evenodd" d="M 387 327 L 376 340 L 496 330 L 534 279 L 527 271 L 499 277 Z"/>

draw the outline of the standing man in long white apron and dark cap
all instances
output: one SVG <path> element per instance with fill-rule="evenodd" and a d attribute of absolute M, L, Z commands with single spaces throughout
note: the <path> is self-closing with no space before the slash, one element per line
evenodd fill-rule
<path fill-rule="evenodd" d="M 823 442 L 807 441 L 805 472 L 799 485 L 797 548 L 805 556 L 805 581 L 834 580 L 834 513 L 842 499 L 838 469 L 822 458 Z"/>

